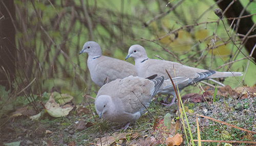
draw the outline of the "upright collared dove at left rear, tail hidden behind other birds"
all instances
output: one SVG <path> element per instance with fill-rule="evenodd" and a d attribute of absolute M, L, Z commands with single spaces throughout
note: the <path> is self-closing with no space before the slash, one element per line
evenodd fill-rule
<path fill-rule="evenodd" d="M 86 42 L 79 54 L 83 52 L 88 53 L 87 66 L 91 78 L 100 87 L 107 77 L 108 81 L 111 82 L 117 78 L 124 78 L 130 75 L 137 76 L 133 64 L 102 55 L 101 48 L 96 42 Z"/>

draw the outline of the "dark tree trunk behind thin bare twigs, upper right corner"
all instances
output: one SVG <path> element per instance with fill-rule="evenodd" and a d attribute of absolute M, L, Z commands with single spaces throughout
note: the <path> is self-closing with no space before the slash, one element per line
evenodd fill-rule
<path fill-rule="evenodd" d="M 217 2 L 218 0 L 215 0 L 215 1 Z M 220 2 L 218 4 L 218 6 L 222 9 L 222 11 L 224 11 L 231 2 L 232 2 L 232 0 L 224 0 L 224 1 Z M 227 10 L 227 12 L 224 15 L 226 18 L 239 17 L 243 9 L 244 9 L 244 7 L 242 6 L 242 4 L 239 1 L 234 1 L 234 3 L 231 5 L 231 7 Z M 242 16 L 249 15 L 249 14 L 250 14 L 249 12 L 244 11 Z M 229 25 L 232 23 L 232 21 L 233 20 L 228 20 Z M 233 24 L 237 24 L 237 20 L 235 20 L 233 22 Z M 246 35 L 249 32 L 249 30 L 253 24 L 254 24 L 254 22 L 252 21 L 251 17 L 242 18 L 239 25 L 236 26 L 236 27 L 238 27 L 237 33 Z M 256 31 L 251 31 L 249 36 L 251 36 L 251 35 L 256 35 Z M 240 38 L 243 38 L 243 37 L 240 37 Z M 245 41 L 244 45 L 249 54 L 251 53 L 252 48 L 254 47 L 255 43 L 256 43 L 256 37 L 249 38 L 249 39 L 247 39 L 247 41 Z M 254 62 L 255 62 L 256 51 L 253 52 L 252 57 L 254 58 Z"/>

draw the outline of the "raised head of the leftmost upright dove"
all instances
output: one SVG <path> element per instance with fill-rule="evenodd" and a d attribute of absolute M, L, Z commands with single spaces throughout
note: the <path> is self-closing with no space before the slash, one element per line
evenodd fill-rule
<path fill-rule="evenodd" d="M 96 43 L 94 41 L 89 41 L 89 42 L 84 43 L 82 50 L 79 52 L 79 54 L 84 53 L 84 52 L 88 53 L 88 55 L 91 55 L 93 57 L 100 56 L 101 48 L 98 43 Z"/>

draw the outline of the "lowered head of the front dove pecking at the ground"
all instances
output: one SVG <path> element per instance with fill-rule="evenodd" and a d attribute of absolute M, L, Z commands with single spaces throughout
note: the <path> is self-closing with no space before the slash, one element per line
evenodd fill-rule
<path fill-rule="evenodd" d="M 95 108 L 99 118 L 104 119 L 104 114 L 107 114 L 111 109 L 112 99 L 108 95 L 100 95 L 95 99 Z"/>

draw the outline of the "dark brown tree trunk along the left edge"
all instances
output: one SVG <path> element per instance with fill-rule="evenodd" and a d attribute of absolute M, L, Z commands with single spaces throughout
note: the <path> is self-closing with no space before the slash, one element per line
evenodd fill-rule
<path fill-rule="evenodd" d="M 0 0 L 0 84 L 11 89 L 15 79 L 15 7 L 13 0 Z"/>

